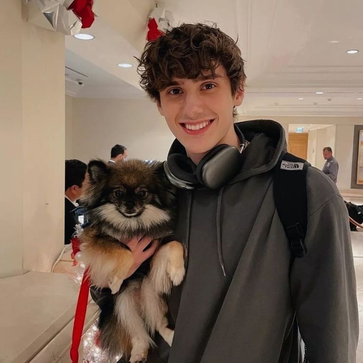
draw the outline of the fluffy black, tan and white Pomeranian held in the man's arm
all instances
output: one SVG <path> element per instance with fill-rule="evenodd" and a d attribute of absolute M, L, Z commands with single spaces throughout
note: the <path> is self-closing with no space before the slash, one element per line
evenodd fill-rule
<path fill-rule="evenodd" d="M 161 244 L 155 254 L 127 278 L 133 254 L 124 244 L 136 236 L 152 240 L 173 234 L 175 188 L 163 163 L 128 160 L 88 164 L 89 184 L 82 196 L 88 225 L 80 234 L 81 260 L 91 285 L 109 287 L 101 300 L 101 348 L 131 363 L 145 362 L 157 330 L 172 344 L 165 294 L 184 277 L 182 244 Z"/>

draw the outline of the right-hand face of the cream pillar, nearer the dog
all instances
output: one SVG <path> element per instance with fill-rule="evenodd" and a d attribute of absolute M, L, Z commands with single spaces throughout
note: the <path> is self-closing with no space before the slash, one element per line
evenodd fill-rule
<path fill-rule="evenodd" d="M 22 30 L 23 266 L 50 271 L 64 246 L 64 35 Z"/>

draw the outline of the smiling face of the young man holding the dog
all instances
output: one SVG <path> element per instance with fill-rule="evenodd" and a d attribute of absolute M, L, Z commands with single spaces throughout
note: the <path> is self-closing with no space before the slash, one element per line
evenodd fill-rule
<path fill-rule="evenodd" d="M 241 105 L 244 92 L 239 89 L 232 96 L 223 66 L 215 75 L 206 71 L 197 79 L 173 78 L 160 91 L 159 112 L 188 154 L 206 153 L 234 133 L 233 107 Z"/>

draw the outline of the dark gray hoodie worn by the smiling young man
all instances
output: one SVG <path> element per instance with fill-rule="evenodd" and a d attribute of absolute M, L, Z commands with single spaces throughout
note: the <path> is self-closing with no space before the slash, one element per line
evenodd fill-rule
<path fill-rule="evenodd" d="M 355 363 L 356 279 L 342 197 L 309 168 L 308 252 L 294 259 L 273 196 L 284 129 L 270 120 L 238 127 L 251 142 L 240 173 L 217 191 L 179 192 L 187 271 L 168 301 L 175 336 L 170 350 L 156 337 L 147 362 L 299 363 L 297 322 L 310 363 Z M 178 142 L 175 152 L 185 153 Z"/>

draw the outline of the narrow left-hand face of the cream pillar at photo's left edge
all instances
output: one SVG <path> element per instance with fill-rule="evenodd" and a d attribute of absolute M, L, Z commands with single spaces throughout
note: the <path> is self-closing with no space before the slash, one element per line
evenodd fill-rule
<path fill-rule="evenodd" d="M 0 162 L 2 170 L 0 277 L 20 274 L 23 264 L 21 1 L 2 1 L 0 11 Z M 11 36 L 9 29 L 12 30 Z"/>

